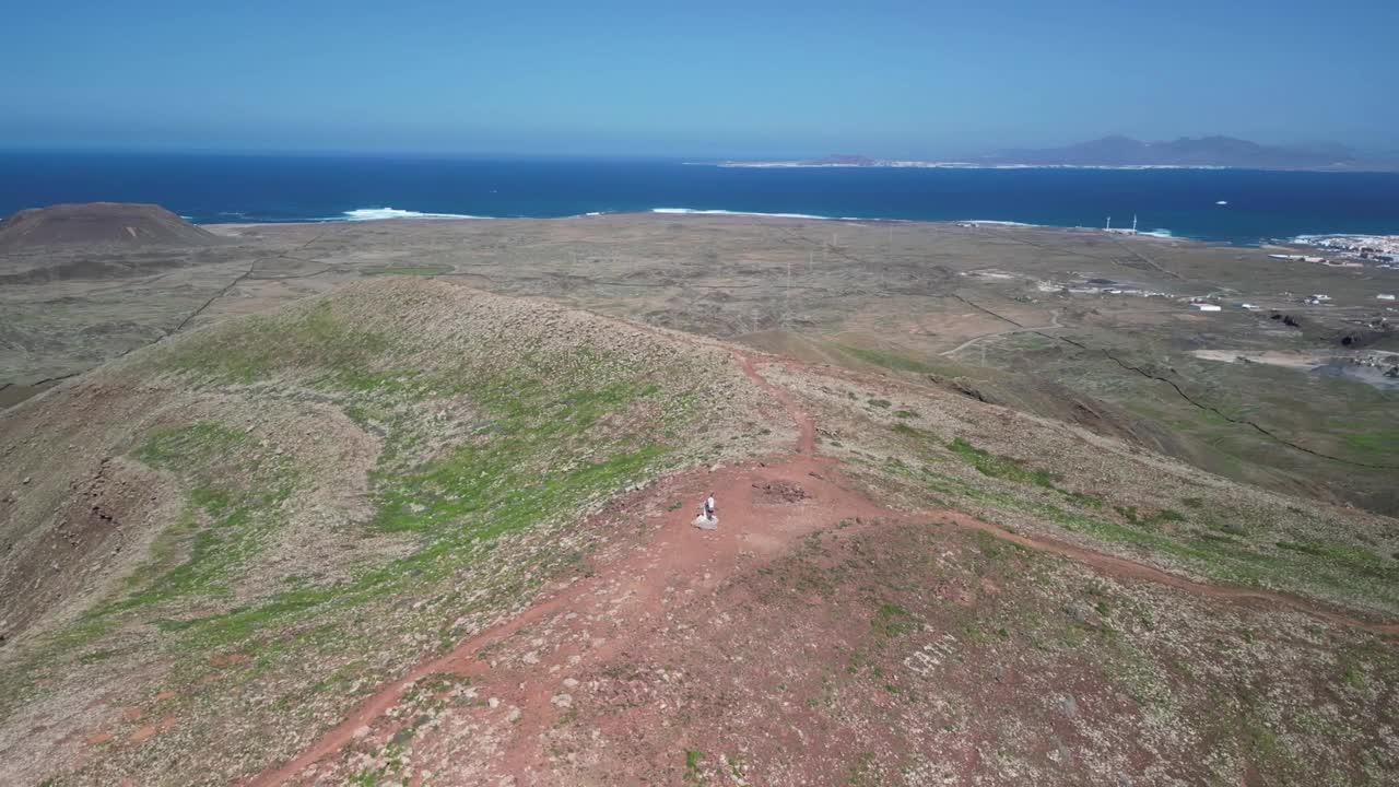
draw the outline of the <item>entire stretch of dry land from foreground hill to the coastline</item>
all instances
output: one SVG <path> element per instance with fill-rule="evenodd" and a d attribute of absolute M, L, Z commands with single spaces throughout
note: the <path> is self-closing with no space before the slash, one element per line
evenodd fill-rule
<path fill-rule="evenodd" d="M 1399 783 L 1399 272 L 1269 251 L 20 214 L 0 783 Z"/>

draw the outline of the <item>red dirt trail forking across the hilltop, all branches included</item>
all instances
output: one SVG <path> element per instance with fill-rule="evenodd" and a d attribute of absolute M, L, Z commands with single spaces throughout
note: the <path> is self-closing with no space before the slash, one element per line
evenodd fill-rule
<path fill-rule="evenodd" d="M 547 727 L 555 689 L 537 679 L 539 667 L 512 668 L 492 665 L 481 657 L 483 648 L 501 643 L 532 626 L 544 623 L 568 629 L 569 641 L 588 641 L 589 622 L 625 619 L 630 632 L 653 630 L 669 612 L 677 588 L 681 592 L 712 592 L 739 570 L 765 563 L 783 553 L 803 536 L 849 520 L 881 520 L 902 522 L 943 522 L 967 529 L 983 531 L 1009 542 L 1060 555 L 1112 577 L 1151 581 L 1182 591 L 1230 602 L 1287 606 L 1312 615 L 1328 623 L 1350 626 L 1378 634 L 1399 634 L 1399 623 L 1363 620 L 1316 602 L 1280 592 L 1256 591 L 1196 583 L 1090 549 L 1044 538 L 1014 534 L 956 511 L 928 511 L 905 514 L 884 508 L 855 489 L 837 469 L 835 459 L 814 455 L 816 423 L 796 402 L 795 396 L 769 382 L 758 371 L 758 364 L 789 363 L 785 358 L 734 353 L 736 363 L 753 382 L 782 403 L 797 424 L 800 437 L 796 454 L 769 462 L 747 462 L 715 472 L 691 471 L 665 479 L 658 486 L 635 493 L 606 514 L 638 515 L 648 500 L 694 500 L 713 492 L 718 501 L 719 529 L 700 531 L 690 525 L 694 511 L 688 507 L 663 514 L 665 527 L 656 528 L 648 543 L 641 543 L 625 557 L 597 566 L 586 578 L 578 578 L 558 588 L 522 615 L 463 640 L 452 653 L 422 662 L 402 679 L 389 683 L 355 709 L 344 721 L 326 731 L 311 748 L 280 766 L 255 776 L 249 787 L 274 787 L 287 783 L 315 780 L 315 766 L 333 760 L 346 746 L 364 735 L 362 728 L 374 728 L 385 718 L 418 681 L 431 675 L 462 675 L 478 678 L 490 674 L 490 683 L 499 689 L 499 699 L 520 710 L 513 734 L 502 746 L 499 758 L 490 769 L 502 774 L 530 773 L 539 765 L 537 732 Z M 797 499 L 775 499 L 771 490 L 799 490 Z M 557 585 L 555 585 L 557 587 Z M 564 646 L 548 655 L 548 661 L 562 658 L 600 662 L 628 647 L 625 637 L 597 641 L 579 647 Z M 508 686 L 519 686 L 516 692 Z M 513 696 L 512 696 L 513 695 Z M 360 732 L 357 735 L 357 732 Z M 392 731 L 389 732 L 392 734 Z M 375 735 L 375 739 L 381 738 Z"/>

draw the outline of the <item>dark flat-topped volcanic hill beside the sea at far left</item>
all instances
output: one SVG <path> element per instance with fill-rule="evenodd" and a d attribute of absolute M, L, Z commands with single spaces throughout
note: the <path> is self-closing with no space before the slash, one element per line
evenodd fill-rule
<path fill-rule="evenodd" d="M 0 221 L 0 253 L 50 246 L 210 246 L 221 239 L 158 204 L 97 202 L 21 210 Z"/>

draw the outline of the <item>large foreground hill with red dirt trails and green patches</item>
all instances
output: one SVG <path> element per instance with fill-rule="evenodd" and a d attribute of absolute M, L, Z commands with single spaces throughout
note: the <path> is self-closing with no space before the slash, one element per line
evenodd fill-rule
<path fill-rule="evenodd" d="M 936 385 L 396 279 L 101 367 L 0 455 L 6 783 L 1399 762 L 1396 522 Z"/>

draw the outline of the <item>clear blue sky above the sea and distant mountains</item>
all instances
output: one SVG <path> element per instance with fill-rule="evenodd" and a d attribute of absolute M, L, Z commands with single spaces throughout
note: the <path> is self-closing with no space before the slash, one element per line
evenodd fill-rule
<path fill-rule="evenodd" d="M 0 147 L 1396 150 L 1396 31 L 1399 0 L 13 3 Z"/>

